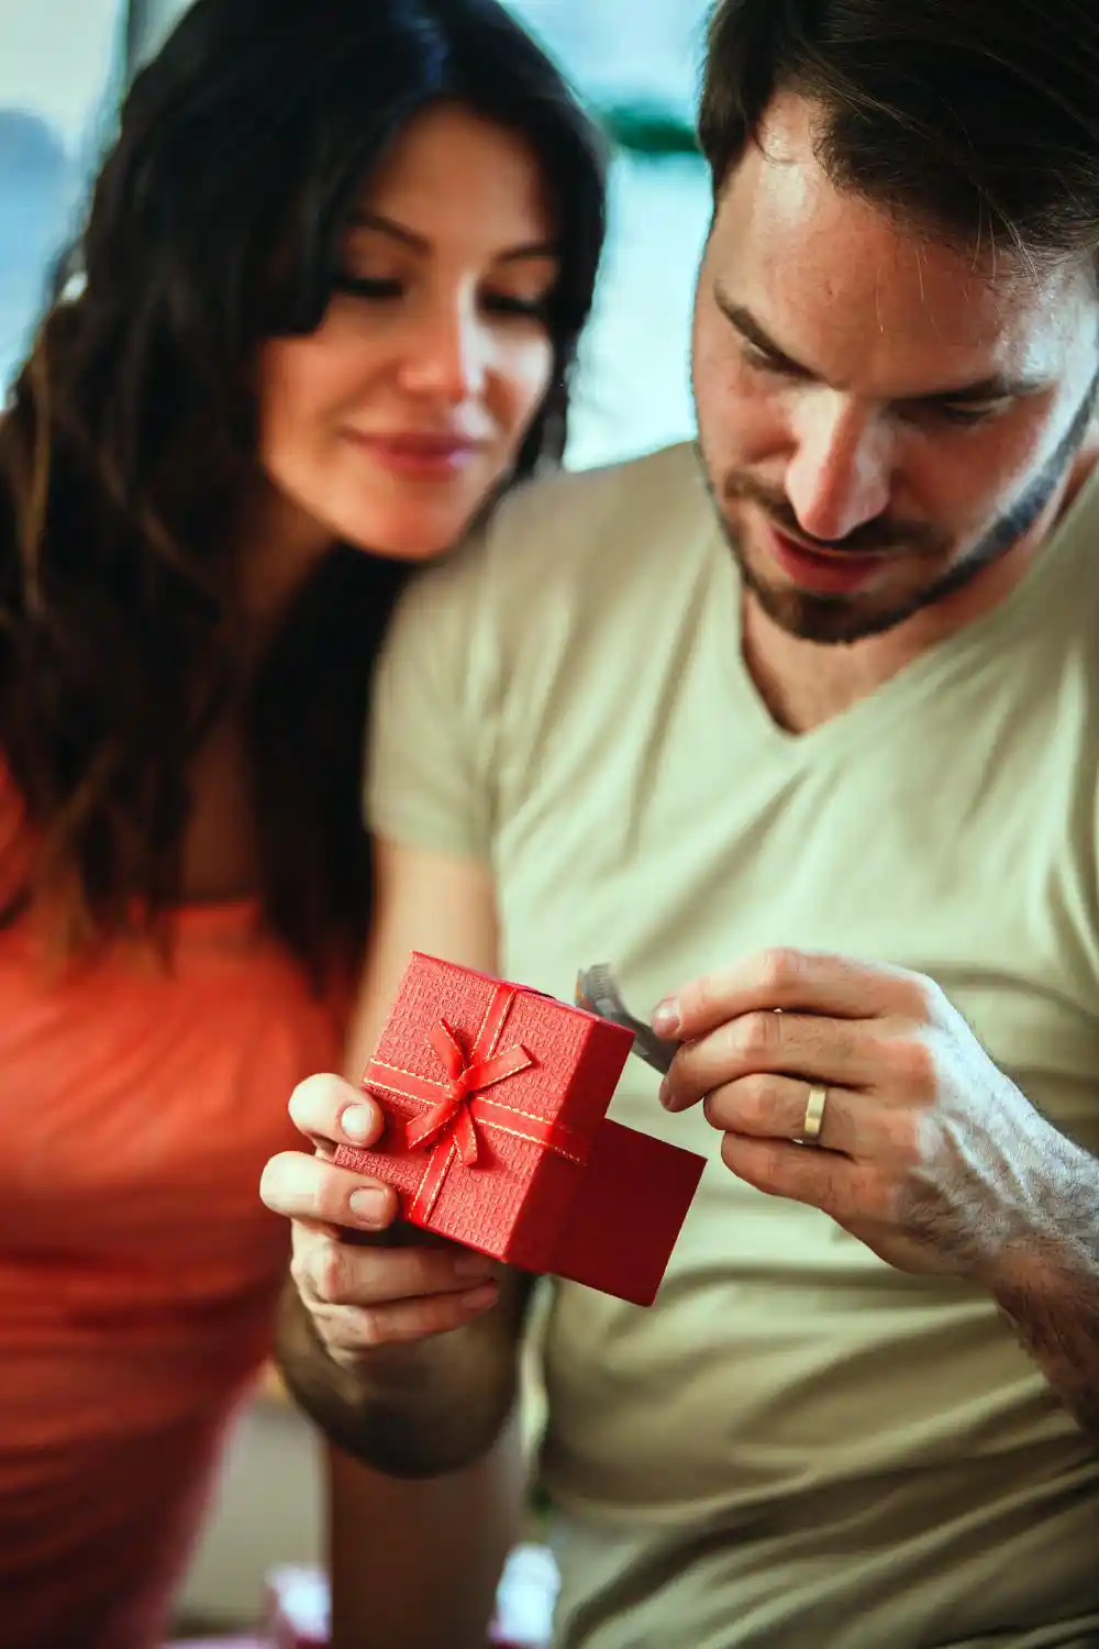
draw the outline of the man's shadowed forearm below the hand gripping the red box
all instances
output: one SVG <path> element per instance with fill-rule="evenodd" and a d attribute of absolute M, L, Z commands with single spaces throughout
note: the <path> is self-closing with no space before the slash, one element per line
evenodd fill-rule
<path fill-rule="evenodd" d="M 516 1342 L 524 1298 L 451 1334 L 379 1347 L 354 1369 L 333 1362 L 288 1285 L 280 1309 L 278 1365 L 300 1407 L 328 1438 L 390 1478 L 433 1478 L 479 1459 L 516 1398 Z"/>

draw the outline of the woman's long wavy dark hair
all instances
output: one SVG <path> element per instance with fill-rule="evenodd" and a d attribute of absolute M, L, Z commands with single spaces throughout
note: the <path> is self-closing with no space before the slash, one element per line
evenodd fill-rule
<path fill-rule="evenodd" d="M 522 477 L 560 457 L 603 165 L 496 0 L 198 0 L 125 101 L 82 289 L 0 422 L 0 755 L 66 950 L 161 927 L 194 754 L 246 691 L 267 918 L 315 975 L 362 940 L 361 734 L 404 569 L 336 547 L 246 688 L 231 526 L 257 477 L 259 345 L 320 325 L 364 180 L 437 99 L 526 135 L 554 193 L 555 373 Z"/>

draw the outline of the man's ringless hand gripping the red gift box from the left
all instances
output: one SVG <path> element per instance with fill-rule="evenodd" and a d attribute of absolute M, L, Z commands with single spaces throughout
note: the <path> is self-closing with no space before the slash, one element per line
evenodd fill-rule
<path fill-rule="evenodd" d="M 334 1364 L 354 1369 L 382 1346 L 447 1334 L 498 1301 L 491 1260 L 456 1243 L 394 1227 L 395 1192 L 336 1167 L 338 1144 L 372 1144 L 384 1118 L 339 1077 L 310 1077 L 290 1115 L 313 1151 L 285 1151 L 264 1169 L 260 1196 L 293 1224 L 293 1281 Z M 372 1238 L 372 1240 L 371 1240 Z"/>

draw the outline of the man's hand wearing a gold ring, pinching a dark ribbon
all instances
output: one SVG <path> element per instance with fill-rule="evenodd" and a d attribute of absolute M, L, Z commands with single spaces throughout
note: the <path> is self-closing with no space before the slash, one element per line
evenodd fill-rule
<path fill-rule="evenodd" d="M 931 980 L 766 951 L 687 984 L 652 1026 L 684 1042 L 662 1103 L 702 1100 L 733 1174 L 822 1209 L 890 1265 L 997 1293 L 1018 1263 L 1056 1253 L 1064 1176 L 1083 1153 Z M 814 1085 L 827 1102 L 807 1146 Z"/>

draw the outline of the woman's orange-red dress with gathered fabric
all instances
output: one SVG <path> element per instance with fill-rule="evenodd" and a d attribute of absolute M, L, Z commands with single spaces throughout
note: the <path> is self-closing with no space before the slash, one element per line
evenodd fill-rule
<path fill-rule="evenodd" d="M 0 909 L 26 851 L 0 768 Z M 0 932 L 0 1642 L 161 1641 L 270 1349 L 260 1171 L 295 1082 L 338 1069 L 341 1006 L 247 902 L 183 910 L 171 975 L 119 945 L 49 983 L 26 923 Z"/>

